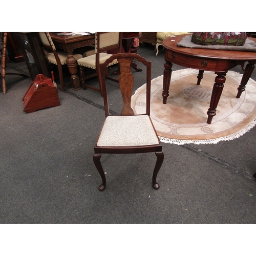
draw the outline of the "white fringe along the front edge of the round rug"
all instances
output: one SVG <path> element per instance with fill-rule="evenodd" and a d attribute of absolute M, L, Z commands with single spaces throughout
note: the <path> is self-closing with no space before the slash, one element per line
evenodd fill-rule
<path fill-rule="evenodd" d="M 215 139 L 207 139 L 207 140 L 176 140 L 176 139 L 168 139 L 164 138 L 161 136 L 159 137 L 159 140 L 164 143 L 171 143 L 171 144 L 177 144 L 177 145 L 183 145 L 183 144 L 217 144 L 220 141 L 223 140 L 233 140 L 237 139 L 240 136 L 244 135 L 245 133 L 249 132 L 250 129 L 252 129 L 256 124 L 256 117 L 247 125 L 245 125 L 241 130 L 237 131 L 236 133 L 224 136 L 224 137 L 219 137 Z"/>

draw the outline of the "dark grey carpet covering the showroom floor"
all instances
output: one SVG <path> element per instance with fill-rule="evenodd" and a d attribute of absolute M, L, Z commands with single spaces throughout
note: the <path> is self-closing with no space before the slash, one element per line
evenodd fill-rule
<path fill-rule="evenodd" d="M 163 74 L 162 48 L 158 56 L 152 46 L 138 53 L 152 61 L 152 78 Z M 7 69 L 28 74 L 24 62 L 10 61 Z M 139 88 L 145 72 L 133 73 Z M 7 76 L 7 93 L 0 93 L 0 223 L 256 222 L 255 127 L 218 144 L 162 143 L 159 190 L 151 183 L 154 153 L 103 155 L 107 186 L 101 192 L 92 159 L 104 120 L 101 96 L 59 91 L 60 106 L 27 114 L 22 98 L 31 81 Z M 119 112 L 117 84 L 109 83 L 111 110 Z"/>

